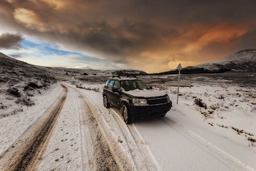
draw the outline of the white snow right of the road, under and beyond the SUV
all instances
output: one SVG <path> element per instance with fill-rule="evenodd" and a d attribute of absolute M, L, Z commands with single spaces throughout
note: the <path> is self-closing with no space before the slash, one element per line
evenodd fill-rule
<path fill-rule="evenodd" d="M 173 90 L 177 87 L 156 92 L 168 93 L 172 102 L 176 102 L 177 93 Z M 241 167 L 254 170 L 255 144 L 248 140 L 256 135 L 255 98 L 251 92 L 255 90 L 237 86 L 181 87 L 179 104 L 173 103 L 165 120 L 145 118 L 133 125 L 162 170 L 240 170 Z M 86 94 L 104 109 L 101 93 L 86 91 Z M 194 105 L 196 97 L 202 99 L 207 109 Z M 111 109 L 120 115 L 119 109 Z M 207 110 L 213 113 L 201 114 Z M 244 131 L 238 134 L 232 127 Z"/>

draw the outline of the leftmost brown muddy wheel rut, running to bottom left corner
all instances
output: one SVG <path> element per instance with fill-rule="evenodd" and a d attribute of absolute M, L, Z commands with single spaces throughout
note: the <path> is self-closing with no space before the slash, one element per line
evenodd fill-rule
<path fill-rule="evenodd" d="M 38 156 L 47 145 L 51 131 L 67 97 L 67 88 L 61 84 L 62 94 L 16 143 L 1 158 L 5 163 L 3 170 L 34 170 Z"/>

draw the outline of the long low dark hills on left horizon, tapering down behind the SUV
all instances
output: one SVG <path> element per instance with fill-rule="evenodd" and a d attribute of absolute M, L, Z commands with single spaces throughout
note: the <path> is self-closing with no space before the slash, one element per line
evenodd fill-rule
<path fill-rule="evenodd" d="M 95 70 L 95 69 L 82 69 L 82 68 L 65 68 L 65 67 L 45 67 L 37 66 L 22 62 L 15 58 L 9 57 L 0 52 L 0 74 L 1 76 L 8 75 L 9 78 L 12 75 L 18 75 L 19 77 L 28 78 L 53 78 L 66 79 L 70 76 L 75 75 L 100 75 L 100 76 L 111 76 L 111 75 L 146 75 L 147 73 L 141 70 L 134 69 L 112 69 L 112 70 Z M 16 74 L 14 74 L 16 73 Z M 0 77 L 1 82 L 1 77 Z"/>

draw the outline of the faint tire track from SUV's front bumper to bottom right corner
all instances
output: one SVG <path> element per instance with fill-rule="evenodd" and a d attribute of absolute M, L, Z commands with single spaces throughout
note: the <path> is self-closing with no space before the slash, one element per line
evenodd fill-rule
<path fill-rule="evenodd" d="M 241 162 L 234 156 L 231 156 L 230 154 L 223 151 L 222 149 L 219 149 L 216 145 L 205 140 L 204 138 L 200 137 L 196 133 L 190 131 L 187 128 L 184 128 L 182 125 L 177 124 L 173 120 L 171 120 L 167 117 L 163 117 L 163 118 L 158 117 L 158 119 L 161 120 L 163 123 L 165 123 L 170 128 L 179 132 L 182 136 L 189 139 L 191 142 L 195 143 L 197 146 L 199 146 L 200 148 L 205 150 L 207 153 L 213 155 L 220 162 L 223 162 L 225 165 L 228 164 L 227 166 L 229 168 L 231 168 L 231 170 L 251 170 L 251 171 L 256 170 L 256 169 L 248 166 L 247 164 Z M 228 161 L 228 162 L 224 162 L 224 161 Z"/>

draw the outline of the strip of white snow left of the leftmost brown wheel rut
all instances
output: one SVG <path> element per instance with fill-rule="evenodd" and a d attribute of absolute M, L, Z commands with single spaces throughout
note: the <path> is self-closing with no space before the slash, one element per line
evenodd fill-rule
<path fill-rule="evenodd" d="M 23 112 L 0 119 L 0 156 L 46 111 L 62 90 L 57 84 L 48 94 L 34 99 L 34 106 L 23 106 Z"/>

